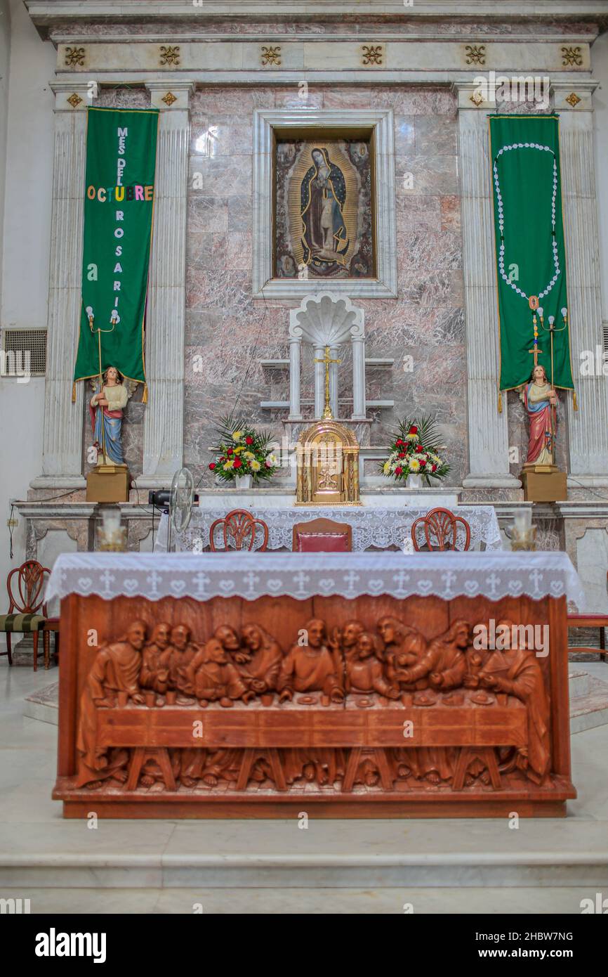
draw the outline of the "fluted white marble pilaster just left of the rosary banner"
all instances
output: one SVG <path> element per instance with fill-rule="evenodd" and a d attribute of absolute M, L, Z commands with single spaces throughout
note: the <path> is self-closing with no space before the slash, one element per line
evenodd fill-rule
<path fill-rule="evenodd" d="M 498 411 L 499 334 L 488 147 L 488 110 L 470 101 L 472 82 L 455 84 L 463 211 L 468 474 L 465 488 L 520 488 L 508 470 L 507 395 Z"/>

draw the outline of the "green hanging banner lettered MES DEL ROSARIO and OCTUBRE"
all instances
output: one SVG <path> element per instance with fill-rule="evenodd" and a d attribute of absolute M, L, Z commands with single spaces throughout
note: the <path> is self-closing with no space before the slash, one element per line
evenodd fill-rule
<path fill-rule="evenodd" d="M 82 307 L 74 381 L 115 366 L 124 377 L 145 383 L 143 319 L 157 131 L 157 109 L 87 111 Z"/>

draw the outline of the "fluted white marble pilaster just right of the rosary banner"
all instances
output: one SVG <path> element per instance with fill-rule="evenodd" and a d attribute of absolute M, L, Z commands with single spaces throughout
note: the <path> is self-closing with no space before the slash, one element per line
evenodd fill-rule
<path fill-rule="evenodd" d="M 566 242 L 572 372 L 579 409 L 567 395 L 570 488 L 608 486 L 608 382 L 599 372 L 581 375 L 582 354 L 602 344 L 599 233 L 591 95 L 597 82 L 552 83 L 559 112 L 561 191 Z M 566 102 L 572 94 L 574 106 Z M 573 100 L 574 101 L 574 100 Z"/>

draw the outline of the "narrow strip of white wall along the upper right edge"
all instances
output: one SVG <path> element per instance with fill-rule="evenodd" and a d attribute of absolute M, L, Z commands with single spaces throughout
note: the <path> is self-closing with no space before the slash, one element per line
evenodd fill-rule
<path fill-rule="evenodd" d="M 608 320 L 608 32 L 591 48 L 591 76 L 601 87 L 593 96 L 603 318 Z M 598 343 L 601 342 L 598 338 Z"/>

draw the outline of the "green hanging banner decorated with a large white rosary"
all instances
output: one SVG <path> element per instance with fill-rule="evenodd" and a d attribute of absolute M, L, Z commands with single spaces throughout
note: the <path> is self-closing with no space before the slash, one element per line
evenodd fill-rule
<path fill-rule="evenodd" d="M 490 115 L 489 122 L 499 387 L 510 390 L 527 382 L 538 361 L 549 382 L 552 376 L 553 386 L 573 389 L 559 119 L 557 115 Z"/>

